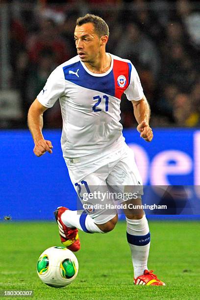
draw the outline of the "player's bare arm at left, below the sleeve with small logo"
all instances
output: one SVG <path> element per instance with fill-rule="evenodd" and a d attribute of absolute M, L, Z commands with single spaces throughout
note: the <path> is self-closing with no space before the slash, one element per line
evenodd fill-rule
<path fill-rule="evenodd" d="M 43 127 L 43 113 L 48 108 L 43 106 L 37 98 L 31 104 L 28 111 L 28 127 L 33 137 L 33 141 L 35 143 L 35 147 L 33 152 L 36 156 L 41 156 L 45 154 L 45 152 L 52 153 L 53 146 L 50 141 L 44 139 L 42 134 Z"/>

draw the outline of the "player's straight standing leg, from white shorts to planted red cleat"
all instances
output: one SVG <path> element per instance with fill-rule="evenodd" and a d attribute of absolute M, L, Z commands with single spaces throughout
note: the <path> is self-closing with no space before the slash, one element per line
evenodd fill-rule
<path fill-rule="evenodd" d="M 143 195 L 142 178 L 136 166 L 133 152 L 125 147 L 124 154 L 119 161 L 110 164 L 109 176 L 106 179 L 108 186 L 119 196 L 137 193 L 138 199 L 123 202 L 126 205 L 125 216 L 127 223 L 127 241 L 131 250 L 134 268 L 134 283 L 142 285 L 164 285 L 152 271 L 148 270 L 147 261 L 150 249 L 149 225 L 142 209 L 129 209 L 128 204 L 141 204 Z M 127 193 L 128 192 L 128 193 Z M 139 197 L 140 196 L 140 197 Z M 126 196 L 125 196 L 126 197 Z M 134 198 L 134 197 L 133 197 Z M 119 199 L 119 198 L 118 198 Z M 121 198 L 122 199 L 122 198 Z"/>

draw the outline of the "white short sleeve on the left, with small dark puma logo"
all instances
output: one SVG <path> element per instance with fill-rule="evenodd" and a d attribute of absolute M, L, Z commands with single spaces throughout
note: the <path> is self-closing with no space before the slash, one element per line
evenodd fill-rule
<path fill-rule="evenodd" d="M 57 67 L 47 79 L 47 82 L 38 94 L 37 100 L 45 107 L 52 107 L 62 96 L 65 90 L 65 78 L 62 68 Z"/>

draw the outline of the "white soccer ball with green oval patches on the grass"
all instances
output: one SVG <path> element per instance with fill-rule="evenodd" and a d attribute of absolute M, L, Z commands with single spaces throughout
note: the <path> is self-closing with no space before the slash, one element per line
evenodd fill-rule
<path fill-rule="evenodd" d="M 50 247 L 38 259 L 37 274 L 51 287 L 64 287 L 78 274 L 77 258 L 65 247 Z"/>

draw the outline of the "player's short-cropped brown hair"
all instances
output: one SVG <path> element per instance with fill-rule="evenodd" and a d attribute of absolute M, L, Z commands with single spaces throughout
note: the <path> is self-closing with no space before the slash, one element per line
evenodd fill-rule
<path fill-rule="evenodd" d="M 87 14 L 84 17 L 80 17 L 76 20 L 76 25 L 81 26 L 86 23 L 92 23 L 94 25 L 95 31 L 99 37 L 102 35 L 109 36 L 109 28 L 105 21 L 99 16 Z"/>

